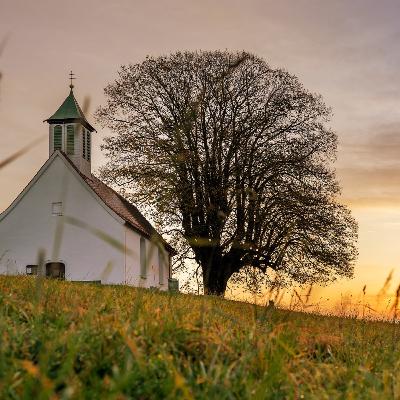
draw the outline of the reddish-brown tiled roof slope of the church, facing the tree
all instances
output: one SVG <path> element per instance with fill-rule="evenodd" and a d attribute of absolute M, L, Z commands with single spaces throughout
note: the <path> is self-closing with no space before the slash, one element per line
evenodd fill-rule
<path fill-rule="evenodd" d="M 128 200 L 117 193 L 115 190 L 107 186 L 94 175 L 86 176 L 82 174 L 76 165 L 68 158 L 68 156 L 60 152 L 71 166 L 78 172 L 85 183 L 97 194 L 103 203 L 121 217 L 130 227 L 144 236 L 159 240 L 165 248 L 173 254 L 176 250 L 169 245 L 163 237 L 157 232 L 153 225 L 145 218 L 145 216 Z"/>

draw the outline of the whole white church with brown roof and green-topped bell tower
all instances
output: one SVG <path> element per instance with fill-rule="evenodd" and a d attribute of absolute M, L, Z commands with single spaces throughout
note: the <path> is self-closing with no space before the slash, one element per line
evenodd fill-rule
<path fill-rule="evenodd" d="M 48 160 L 0 214 L 0 274 L 166 290 L 175 251 L 133 204 L 92 175 L 95 129 L 72 80 L 70 89 L 46 120 Z"/>

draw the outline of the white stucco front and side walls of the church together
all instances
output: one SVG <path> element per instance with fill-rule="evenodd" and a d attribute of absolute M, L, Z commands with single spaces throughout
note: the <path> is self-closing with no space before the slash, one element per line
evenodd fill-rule
<path fill-rule="evenodd" d="M 160 285 L 159 250 L 146 238 L 147 276 L 141 278 L 140 234 L 106 207 L 59 153 L 46 164 L 28 191 L 0 215 L 0 274 L 25 274 L 43 249 L 46 262 L 65 264 L 67 280 L 167 290 L 168 256 Z M 63 216 L 52 215 L 57 202 L 62 202 Z"/>

